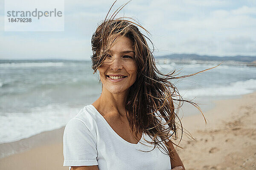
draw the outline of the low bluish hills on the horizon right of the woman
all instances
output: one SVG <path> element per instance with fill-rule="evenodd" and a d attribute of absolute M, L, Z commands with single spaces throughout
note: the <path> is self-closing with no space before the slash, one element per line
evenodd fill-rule
<path fill-rule="evenodd" d="M 205 61 L 241 61 L 241 62 L 256 61 L 256 57 L 250 57 L 250 56 L 218 57 L 218 56 L 206 56 L 206 55 L 201 56 L 197 54 L 171 54 L 166 56 L 159 56 L 156 58 L 189 59 L 189 60 L 205 60 Z"/>

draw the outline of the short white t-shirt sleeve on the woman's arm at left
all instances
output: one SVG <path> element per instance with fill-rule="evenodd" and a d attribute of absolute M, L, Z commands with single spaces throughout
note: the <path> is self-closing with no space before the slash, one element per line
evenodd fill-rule
<path fill-rule="evenodd" d="M 63 166 L 92 166 L 98 165 L 97 142 L 85 123 L 71 119 L 63 134 Z"/>

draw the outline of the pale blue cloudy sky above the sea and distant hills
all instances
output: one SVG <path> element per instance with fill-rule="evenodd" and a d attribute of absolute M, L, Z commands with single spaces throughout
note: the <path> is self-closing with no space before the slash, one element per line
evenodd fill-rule
<path fill-rule="evenodd" d="M 4 31 L 0 0 L 0 59 L 90 60 L 92 34 L 113 2 L 65 0 L 64 31 Z M 117 0 L 112 12 L 126 2 Z M 256 56 L 256 0 L 132 0 L 123 16 L 151 33 L 140 28 L 155 56 Z"/>

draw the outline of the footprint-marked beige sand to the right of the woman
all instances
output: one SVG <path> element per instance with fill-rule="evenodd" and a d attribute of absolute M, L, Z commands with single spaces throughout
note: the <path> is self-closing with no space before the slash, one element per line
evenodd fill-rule
<path fill-rule="evenodd" d="M 181 120 L 195 139 L 176 149 L 186 170 L 256 170 L 256 92 L 215 104 L 207 126 L 200 114 Z"/>

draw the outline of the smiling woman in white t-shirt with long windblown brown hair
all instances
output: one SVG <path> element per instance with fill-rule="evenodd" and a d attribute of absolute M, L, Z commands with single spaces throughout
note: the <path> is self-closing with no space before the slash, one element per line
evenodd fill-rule
<path fill-rule="evenodd" d="M 177 139 L 179 128 L 173 100 L 186 101 L 174 99 L 179 95 L 168 80 L 177 78 L 175 71 L 167 75 L 158 71 L 137 28 L 143 27 L 125 17 L 113 19 L 115 13 L 93 34 L 92 68 L 93 74 L 99 71 L 102 93 L 67 123 L 64 166 L 185 170 L 170 140 L 171 136 Z"/>

